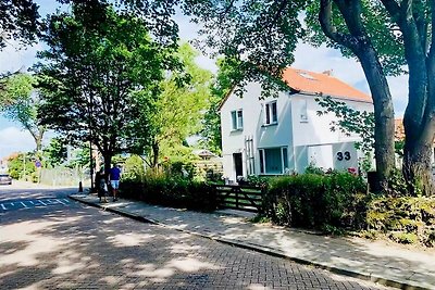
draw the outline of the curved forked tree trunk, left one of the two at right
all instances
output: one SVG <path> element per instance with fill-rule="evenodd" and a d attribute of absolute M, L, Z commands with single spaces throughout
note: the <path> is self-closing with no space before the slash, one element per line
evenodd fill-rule
<path fill-rule="evenodd" d="M 387 189 L 388 177 L 395 168 L 394 108 L 388 83 L 380 58 L 370 41 L 361 21 L 360 1 L 334 1 L 348 27 L 340 33 L 333 23 L 333 0 L 321 0 L 319 21 L 323 33 L 335 42 L 350 49 L 360 60 L 372 93 L 375 117 L 374 151 L 376 159 L 377 188 Z"/>

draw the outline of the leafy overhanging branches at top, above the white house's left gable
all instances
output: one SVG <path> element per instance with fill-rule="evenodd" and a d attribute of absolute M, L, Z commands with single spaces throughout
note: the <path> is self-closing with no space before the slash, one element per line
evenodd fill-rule
<path fill-rule="evenodd" d="M 306 0 L 185 1 L 184 12 L 201 23 L 200 34 L 214 55 L 225 55 L 235 74 L 235 93 L 247 81 L 261 83 L 263 97 L 277 96 L 287 86 L 282 68 L 294 62 L 293 51 L 303 28 L 298 20 Z"/>

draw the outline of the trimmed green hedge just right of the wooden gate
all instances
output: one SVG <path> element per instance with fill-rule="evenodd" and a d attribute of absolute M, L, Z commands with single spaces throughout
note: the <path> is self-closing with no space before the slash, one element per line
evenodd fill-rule
<path fill-rule="evenodd" d="M 265 215 L 291 227 L 359 229 L 364 227 L 365 182 L 348 173 L 301 174 L 271 179 L 264 200 Z"/>

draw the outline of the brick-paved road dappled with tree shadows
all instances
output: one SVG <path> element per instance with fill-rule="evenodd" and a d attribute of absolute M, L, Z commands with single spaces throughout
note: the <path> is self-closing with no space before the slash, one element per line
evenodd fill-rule
<path fill-rule="evenodd" d="M 0 213 L 0 289 L 385 289 L 72 202 Z"/>

